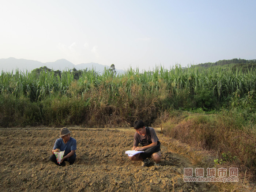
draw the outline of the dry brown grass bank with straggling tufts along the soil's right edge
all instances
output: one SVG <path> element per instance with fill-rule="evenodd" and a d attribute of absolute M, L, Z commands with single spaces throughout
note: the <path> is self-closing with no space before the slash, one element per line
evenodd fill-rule
<path fill-rule="evenodd" d="M 255 128 L 239 128 L 237 125 L 235 119 L 230 122 L 220 115 L 192 113 L 181 113 L 178 118 L 170 117 L 169 121 L 163 123 L 165 135 L 193 148 L 185 154 L 192 159 L 197 157 L 197 160 L 194 159 L 195 163 L 204 162 L 204 156 L 196 155 L 194 149 L 207 150 L 215 154 L 214 159 L 208 159 L 212 161 L 208 162 L 208 165 L 214 164 L 215 160 L 215 164 L 221 163 L 221 166 L 238 167 L 240 180 L 250 184 L 256 180 Z M 181 146 L 172 147 L 182 148 Z"/>

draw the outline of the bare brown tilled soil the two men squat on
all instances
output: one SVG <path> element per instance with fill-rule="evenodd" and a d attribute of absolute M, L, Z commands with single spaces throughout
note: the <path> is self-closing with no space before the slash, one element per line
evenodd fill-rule
<path fill-rule="evenodd" d="M 162 160 L 155 166 L 129 161 L 134 129 L 70 127 L 77 141 L 73 165 L 49 161 L 59 128 L 0 129 L 1 191 L 218 191 L 209 182 L 184 182 L 184 167 L 195 167 L 183 155 L 161 144 Z M 166 140 L 157 133 L 159 140 Z"/>

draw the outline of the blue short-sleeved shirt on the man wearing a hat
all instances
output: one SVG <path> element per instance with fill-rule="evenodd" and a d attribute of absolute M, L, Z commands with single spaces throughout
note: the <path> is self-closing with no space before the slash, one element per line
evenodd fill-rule
<path fill-rule="evenodd" d="M 62 138 L 59 138 L 55 141 L 53 150 L 59 148 L 60 151 L 65 151 L 64 156 L 69 154 L 72 150 L 76 150 L 76 140 L 74 138 L 70 138 L 68 142 L 65 144 Z M 76 157 L 76 152 L 75 152 Z"/>

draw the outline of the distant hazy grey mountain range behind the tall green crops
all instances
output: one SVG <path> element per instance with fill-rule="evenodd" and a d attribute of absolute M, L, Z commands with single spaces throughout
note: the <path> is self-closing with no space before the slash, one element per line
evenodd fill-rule
<path fill-rule="evenodd" d="M 54 62 L 42 63 L 40 61 L 27 60 L 27 59 L 16 59 L 14 57 L 10 57 L 8 59 L 0 59 L 0 70 L 5 72 L 13 71 L 15 73 L 16 69 L 19 71 L 32 71 L 33 69 L 40 68 L 46 66 L 49 69 L 54 71 L 60 70 L 65 71 L 68 69 L 76 68 L 77 70 L 81 69 L 94 69 L 95 71 L 102 73 L 104 68 L 110 68 L 108 65 L 101 65 L 98 63 L 81 63 L 75 65 L 68 60 L 59 59 Z M 124 70 L 116 69 L 117 73 L 123 73 Z"/>

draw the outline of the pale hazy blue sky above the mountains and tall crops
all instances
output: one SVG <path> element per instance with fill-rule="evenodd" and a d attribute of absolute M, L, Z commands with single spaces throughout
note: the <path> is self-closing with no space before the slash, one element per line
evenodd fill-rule
<path fill-rule="evenodd" d="M 256 59 L 255 0 L 0 0 L 0 59 L 116 69 Z"/>

